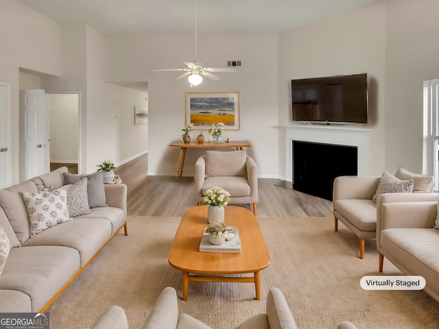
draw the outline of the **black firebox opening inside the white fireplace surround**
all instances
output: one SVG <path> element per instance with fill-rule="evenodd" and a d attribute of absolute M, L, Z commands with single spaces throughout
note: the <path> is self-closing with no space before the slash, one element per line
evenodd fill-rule
<path fill-rule="evenodd" d="M 294 190 L 332 201 L 342 175 L 357 175 L 357 147 L 293 142 Z"/>

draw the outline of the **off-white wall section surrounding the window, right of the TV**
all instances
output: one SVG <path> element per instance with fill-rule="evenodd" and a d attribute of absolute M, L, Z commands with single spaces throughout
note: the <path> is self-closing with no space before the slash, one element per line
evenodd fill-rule
<path fill-rule="evenodd" d="M 437 0 L 388 1 L 385 164 L 390 172 L 400 166 L 423 170 L 423 81 L 439 78 L 438 13 Z"/>

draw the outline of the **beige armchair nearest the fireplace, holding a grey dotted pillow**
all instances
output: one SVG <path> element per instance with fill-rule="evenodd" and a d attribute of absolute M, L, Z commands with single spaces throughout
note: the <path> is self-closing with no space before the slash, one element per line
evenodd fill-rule
<path fill-rule="evenodd" d="M 413 193 L 384 193 L 372 201 L 381 177 L 340 176 L 335 178 L 333 186 L 333 213 L 335 231 L 338 221 L 359 238 L 359 258 L 364 258 L 366 239 L 377 237 L 377 218 L 381 218 L 383 204 L 392 202 L 437 201 L 433 190 L 432 176 L 418 175 L 405 169 L 395 174 L 399 180 L 414 180 Z"/>

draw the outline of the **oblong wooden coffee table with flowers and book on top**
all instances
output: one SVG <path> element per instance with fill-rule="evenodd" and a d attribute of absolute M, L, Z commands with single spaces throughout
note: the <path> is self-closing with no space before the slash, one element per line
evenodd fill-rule
<path fill-rule="evenodd" d="M 208 225 L 207 206 L 189 208 L 180 221 L 174 242 L 169 250 L 168 261 L 172 267 L 182 271 L 182 300 L 187 300 L 189 281 L 254 282 L 256 299 L 261 299 L 259 271 L 270 265 L 270 254 L 259 224 L 253 213 L 246 208 L 226 206 L 224 210 L 224 223 L 236 226 L 239 230 L 240 254 L 199 252 L 203 230 Z M 202 276 L 202 274 L 237 273 L 253 273 L 253 276 Z"/>

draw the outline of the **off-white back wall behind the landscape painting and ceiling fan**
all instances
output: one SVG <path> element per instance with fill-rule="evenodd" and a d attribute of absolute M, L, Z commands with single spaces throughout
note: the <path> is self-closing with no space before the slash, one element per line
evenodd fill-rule
<path fill-rule="evenodd" d="M 152 69 L 182 68 L 194 60 L 193 35 L 106 36 L 107 81 L 147 81 L 149 92 L 148 171 L 150 175 L 174 175 L 179 149 L 169 143 L 181 138 L 185 126 L 185 93 L 240 93 L 241 130 L 224 132 L 224 138 L 248 140 L 261 177 L 277 177 L 278 123 L 276 34 L 198 36 L 198 60 L 211 67 L 241 60 L 239 73 L 218 73 L 222 80 L 191 88 L 187 80 L 175 80 L 179 72 Z M 192 138 L 199 131 L 190 133 Z M 205 132 L 206 135 L 206 132 Z M 184 175 L 193 175 L 195 160 L 204 149 L 187 152 Z"/>

